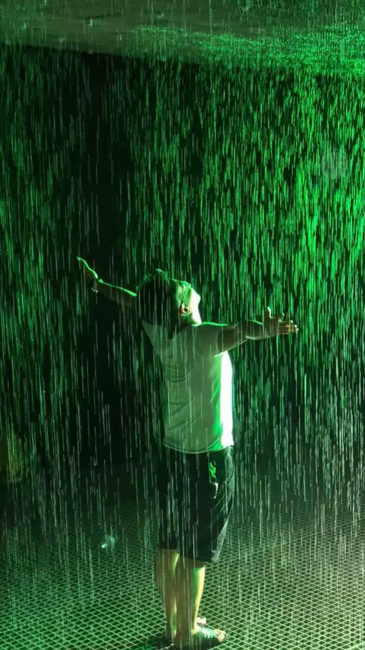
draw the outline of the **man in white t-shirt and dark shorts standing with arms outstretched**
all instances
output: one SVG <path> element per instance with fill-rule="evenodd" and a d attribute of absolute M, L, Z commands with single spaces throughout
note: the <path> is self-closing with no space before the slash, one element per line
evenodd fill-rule
<path fill-rule="evenodd" d="M 163 367 L 165 437 L 156 472 L 155 580 L 167 619 L 165 642 L 177 648 L 214 647 L 226 633 L 203 625 L 198 608 L 206 565 L 219 559 L 234 499 L 228 350 L 298 328 L 282 322 L 284 314 L 271 318 L 269 307 L 263 323 L 202 323 L 200 295 L 161 269 L 142 280 L 137 294 L 97 281 L 90 268 L 85 277 L 95 280 L 94 291 L 138 313 Z"/>

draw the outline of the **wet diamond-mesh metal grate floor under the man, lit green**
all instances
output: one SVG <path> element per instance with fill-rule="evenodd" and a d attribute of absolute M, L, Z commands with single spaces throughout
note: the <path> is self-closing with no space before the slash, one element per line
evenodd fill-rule
<path fill-rule="evenodd" d="M 156 647 L 165 618 L 154 582 L 153 482 L 142 470 L 132 486 L 113 473 L 65 483 L 43 501 L 38 493 L 34 503 L 29 486 L 10 489 L 1 650 Z M 342 493 L 307 486 L 304 497 L 268 474 L 237 472 L 221 560 L 207 567 L 200 606 L 228 632 L 223 650 L 365 649 L 363 491 L 355 478 Z M 101 548 L 105 534 L 116 538 L 111 551 Z"/>

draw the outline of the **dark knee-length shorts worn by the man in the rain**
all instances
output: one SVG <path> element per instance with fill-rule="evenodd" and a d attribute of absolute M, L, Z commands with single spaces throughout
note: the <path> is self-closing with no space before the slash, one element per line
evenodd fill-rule
<path fill-rule="evenodd" d="M 215 564 L 234 500 L 233 447 L 183 454 L 162 445 L 155 482 L 159 548 Z"/>

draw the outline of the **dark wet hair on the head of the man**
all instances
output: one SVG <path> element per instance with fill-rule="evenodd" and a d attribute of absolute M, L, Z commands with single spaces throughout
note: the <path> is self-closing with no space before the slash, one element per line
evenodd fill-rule
<path fill-rule="evenodd" d="M 152 325 L 163 325 L 171 339 L 178 324 L 179 289 L 167 271 L 156 268 L 137 287 L 139 314 Z"/>

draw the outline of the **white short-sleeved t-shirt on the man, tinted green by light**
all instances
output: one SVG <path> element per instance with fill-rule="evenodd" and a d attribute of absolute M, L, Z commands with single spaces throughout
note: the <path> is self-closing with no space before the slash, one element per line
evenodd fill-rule
<path fill-rule="evenodd" d="M 172 339 L 162 326 L 142 327 L 163 367 L 165 447 L 200 454 L 234 445 L 232 363 L 217 347 L 223 326 L 189 325 Z"/>

